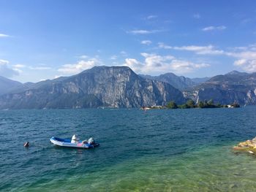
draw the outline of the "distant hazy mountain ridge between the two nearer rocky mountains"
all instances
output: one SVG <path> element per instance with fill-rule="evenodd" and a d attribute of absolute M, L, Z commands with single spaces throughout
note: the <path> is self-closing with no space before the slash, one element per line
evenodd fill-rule
<path fill-rule="evenodd" d="M 186 88 L 197 85 L 196 82 L 193 82 L 188 77 L 177 76 L 176 74 L 173 74 L 173 73 L 161 74 L 159 76 L 140 74 L 140 76 L 149 80 L 158 80 L 162 82 L 167 82 L 170 85 L 172 85 L 174 88 L 177 88 L 178 90 L 181 90 L 181 91 L 183 91 Z"/>

